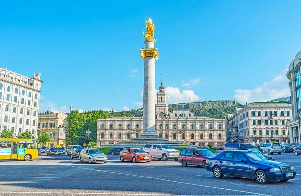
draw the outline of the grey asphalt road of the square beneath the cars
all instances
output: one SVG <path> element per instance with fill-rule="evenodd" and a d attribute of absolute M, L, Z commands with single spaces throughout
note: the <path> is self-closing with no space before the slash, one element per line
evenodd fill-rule
<path fill-rule="evenodd" d="M 69 156 L 42 154 L 33 161 L 0 161 L 0 195 L 295 195 L 301 187 L 301 156 L 273 155 L 295 166 L 297 176 L 267 185 L 253 180 L 216 179 L 202 167 L 177 161 L 80 163 Z"/>

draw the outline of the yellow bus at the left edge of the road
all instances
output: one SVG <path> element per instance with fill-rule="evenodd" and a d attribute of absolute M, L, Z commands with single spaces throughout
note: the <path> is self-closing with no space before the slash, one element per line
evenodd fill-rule
<path fill-rule="evenodd" d="M 38 158 L 38 149 L 33 139 L 0 138 L 0 160 Z"/>

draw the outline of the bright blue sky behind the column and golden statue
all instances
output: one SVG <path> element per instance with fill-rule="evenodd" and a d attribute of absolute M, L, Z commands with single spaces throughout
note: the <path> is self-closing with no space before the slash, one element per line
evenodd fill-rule
<path fill-rule="evenodd" d="M 2 2 L 0 67 L 41 72 L 44 110 L 139 108 L 144 19 L 169 103 L 289 95 L 300 1 Z"/>

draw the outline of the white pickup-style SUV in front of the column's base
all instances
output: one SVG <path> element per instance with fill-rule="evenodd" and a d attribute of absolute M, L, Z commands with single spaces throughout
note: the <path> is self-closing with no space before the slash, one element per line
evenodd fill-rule
<path fill-rule="evenodd" d="M 178 161 L 179 150 L 175 150 L 170 145 L 145 144 L 143 150 L 158 160 L 167 161 L 167 159 L 174 159 Z"/>

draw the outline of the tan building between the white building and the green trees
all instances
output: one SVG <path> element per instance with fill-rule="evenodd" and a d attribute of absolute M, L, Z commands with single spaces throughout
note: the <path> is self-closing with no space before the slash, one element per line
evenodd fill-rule
<path fill-rule="evenodd" d="M 39 115 L 38 134 L 46 132 L 50 136 L 50 141 L 45 146 L 66 146 L 65 128 L 67 126 L 67 117 L 68 115 L 64 112 Z M 41 144 L 39 145 L 41 146 Z"/>

